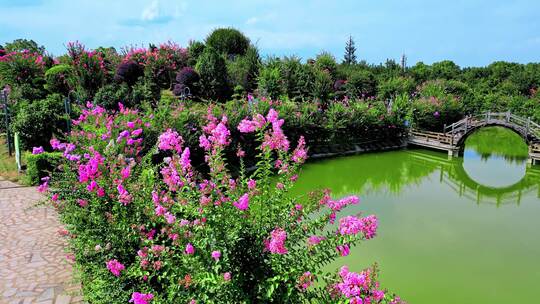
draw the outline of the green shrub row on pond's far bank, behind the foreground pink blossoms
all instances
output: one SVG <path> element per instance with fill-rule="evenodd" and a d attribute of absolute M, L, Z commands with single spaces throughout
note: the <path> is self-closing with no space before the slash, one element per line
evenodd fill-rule
<path fill-rule="evenodd" d="M 206 122 L 208 112 L 216 117 L 227 116 L 231 125 L 239 124 L 245 117 L 266 113 L 274 108 L 284 118 L 282 129 L 293 142 L 304 136 L 310 154 L 336 153 L 354 150 L 356 145 L 368 141 L 398 141 L 405 133 L 404 116 L 401 112 L 388 112 L 382 102 L 376 100 L 336 102 L 327 110 L 321 104 L 297 103 L 290 100 L 270 100 L 249 96 L 246 100 L 226 103 L 186 102 L 178 104 L 174 99 L 163 98 L 157 108 L 148 108 L 154 121 L 160 126 L 178 130 L 188 146 L 195 165 L 204 161 L 202 149 L 198 146 L 200 127 Z M 251 134 L 231 129 L 231 144 L 224 150 L 234 171 L 240 164 L 236 158 L 238 145 L 243 146 L 247 167 L 256 164 L 256 145 Z"/>

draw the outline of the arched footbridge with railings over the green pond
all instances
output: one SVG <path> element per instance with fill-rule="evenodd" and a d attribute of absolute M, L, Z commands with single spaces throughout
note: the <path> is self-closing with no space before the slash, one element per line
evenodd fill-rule
<path fill-rule="evenodd" d="M 411 145 L 448 151 L 450 156 L 463 152 L 465 140 L 476 130 L 488 126 L 501 126 L 520 135 L 529 146 L 529 162 L 540 163 L 540 125 L 510 112 L 486 112 L 469 115 L 444 127 L 444 132 L 412 129 L 408 143 Z"/>

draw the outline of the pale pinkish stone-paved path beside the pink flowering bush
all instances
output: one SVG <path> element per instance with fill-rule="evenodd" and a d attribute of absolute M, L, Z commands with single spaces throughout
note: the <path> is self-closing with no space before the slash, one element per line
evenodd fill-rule
<path fill-rule="evenodd" d="M 34 187 L 0 180 L 0 303 L 80 303 L 57 213 Z"/>

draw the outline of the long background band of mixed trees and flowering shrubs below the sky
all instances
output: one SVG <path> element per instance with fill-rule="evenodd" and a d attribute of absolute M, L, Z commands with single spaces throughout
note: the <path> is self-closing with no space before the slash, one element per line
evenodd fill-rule
<path fill-rule="evenodd" d="M 261 59 L 249 39 L 231 28 L 216 29 L 205 42 L 192 41 L 187 49 L 167 42 L 119 53 L 104 47 L 87 50 L 74 42 L 56 59 L 31 40 L 16 40 L 0 53 L 0 85 L 9 87 L 12 121 L 18 129 L 30 115 L 24 108 L 38 107 L 33 104 L 47 94 L 69 96 L 79 104 L 94 100 L 107 109 L 117 109 L 119 103 L 155 108 L 164 92 L 183 96 L 186 87 L 194 101 L 269 98 L 308 103 L 306 107 L 329 111 L 325 116 L 341 108 L 376 105 L 381 115 L 397 117 L 393 124 L 400 128 L 407 121 L 412 127 L 441 131 L 445 124 L 485 111 L 511 111 L 540 121 L 538 63 L 461 68 L 447 60 L 407 67 L 387 60 L 372 65 L 357 62 L 353 41 L 347 43 L 346 58 L 338 63 L 326 52 L 305 61 L 294 56 Z M 341 124 L 354 127 L 349 116 L 341 119 Z M 64 128 L 58 119 L 48 126 L 54 122 L 59 125 L 53 130 Z M 37 128 L 24 128 L 26 138 L 43 135 Z"/>

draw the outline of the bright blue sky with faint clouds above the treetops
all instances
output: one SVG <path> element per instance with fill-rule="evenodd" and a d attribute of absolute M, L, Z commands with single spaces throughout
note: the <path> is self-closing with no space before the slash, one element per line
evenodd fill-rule
<path fill-rule="evenodd" d="M 68 41 L 90 48 L 173 40 L 187 45 L 216 27 L 242 30 L 264 55 L 321 50 L 409 65 L 444 59 L 461 66 L 540 62 L 538 0 L 0 0 L 0 43 L 31 38 L 53 54 Z"/>

